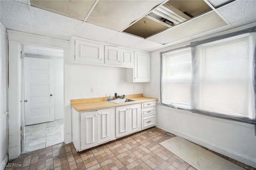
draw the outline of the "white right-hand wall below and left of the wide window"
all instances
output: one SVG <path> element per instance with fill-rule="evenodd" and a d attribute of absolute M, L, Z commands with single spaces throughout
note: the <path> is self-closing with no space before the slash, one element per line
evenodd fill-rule
<path fill-rule="evenodd" d="M 151 53 L 151 82 L 144 85 L 144 95 L 160 101 L 159 52 Z M 254 125 L 158 105 L 157 127 L 256 167 Z"/>

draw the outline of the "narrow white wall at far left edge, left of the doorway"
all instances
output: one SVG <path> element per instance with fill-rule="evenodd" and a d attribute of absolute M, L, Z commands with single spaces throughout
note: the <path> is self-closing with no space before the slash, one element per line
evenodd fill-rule
<path fill-rule="evenodd" d="M 8 160 L 8 43 L 6 28 L 0 30 L 0 163 Z M 1 170 L 4 167 L 1 166 Z"/>

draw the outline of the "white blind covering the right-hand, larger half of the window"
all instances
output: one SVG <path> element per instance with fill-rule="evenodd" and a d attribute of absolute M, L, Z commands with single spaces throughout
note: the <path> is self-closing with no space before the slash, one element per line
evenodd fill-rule
<path fill-rule="evenodd" d="M 198 110 L 251 117 L 252 55 L 249 37 L 201 46 Z"/>

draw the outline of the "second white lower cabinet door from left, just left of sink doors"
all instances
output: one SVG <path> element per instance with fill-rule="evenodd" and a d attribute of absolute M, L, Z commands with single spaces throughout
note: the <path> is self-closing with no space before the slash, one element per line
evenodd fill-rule
<path fill-rule="evenodd" d="M 112 140 L 112 109 L 98 111 L 98 143 Z"/>

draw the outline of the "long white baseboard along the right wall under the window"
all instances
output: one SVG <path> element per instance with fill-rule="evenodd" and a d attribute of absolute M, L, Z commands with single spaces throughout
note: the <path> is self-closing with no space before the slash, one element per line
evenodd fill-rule
<path fill-rule="evenodd" d="M 200 140 L 198 140 L 198 139 L 196 139 L 196 138 L 192 138 L 191 136 L 188 136 L 188 135 L 186 135 L 186 134 L 181 134 L 181 133 L 176 132 L 176 131 L 174 131 L 174 130 L 171 130 L 171 129 L 169 129 L 169 128 L 163 127 L 162 125 L 156 125 L 156 127 L 160 128 L 160 129 L 162 129 L 162 130 L 165 130 L 165 131 L 167 131 L 167 132 L 170 132 L 170 133 L 172 133 L 172 134 L 175 134 L 175 135 L 177 135 L 177 136 L 180 136 L 180 137 L 182 137 L 182 138 L 184 138 L 184 139 L 187 139 L 187 140 L 189 140 L 189 141 L 191 141 L 191 142 L 194 142 L 194 143 L 196 143 L 196 144 L 199 144 L 199 145 L 201 145 L 201 146 L 204 146 L 204 147 L 206 147 L 206 148 L 208 148 L 208 149 L 210 149 L 210 150 L 213 150 L 213 151 L 215 151 L 215 152 L 218 152 L 218 153 L 220 153 L 220 154 L 223 154 L 223 155 L 225 155 L 225 156 L 228 156 L 228 157 L 230 157 L 230 158 L 232 158 L 232 159 L 234 159 L 234 160 L 238 160 L 239 162 L 242 162 L 242 163 L 244 163 L 244 164 L 246 164 L 246 165 L 249 165 L 249 166 L 252 166 L 252 167 L 256 168 L 256 162 L 254 162 L 254 161 L 252 161 L 252 160 L 249 160 L 249 159 L 246 159 L 246 158 L 243 158 L 243 157 L 241 157 L 241 156 L 239 156 L 239 155 L 236 155 L 236 154 L 234 154 L 234 153 L 231 153 L 231 152 L 229 152 L 229 151 L 227 151 L 227 150 L 224 150 L 223 148 L 217 148 L 216 146 L 213 146 L 212 144 L 202 142 L 202 141 L 200 141 Z"/>

